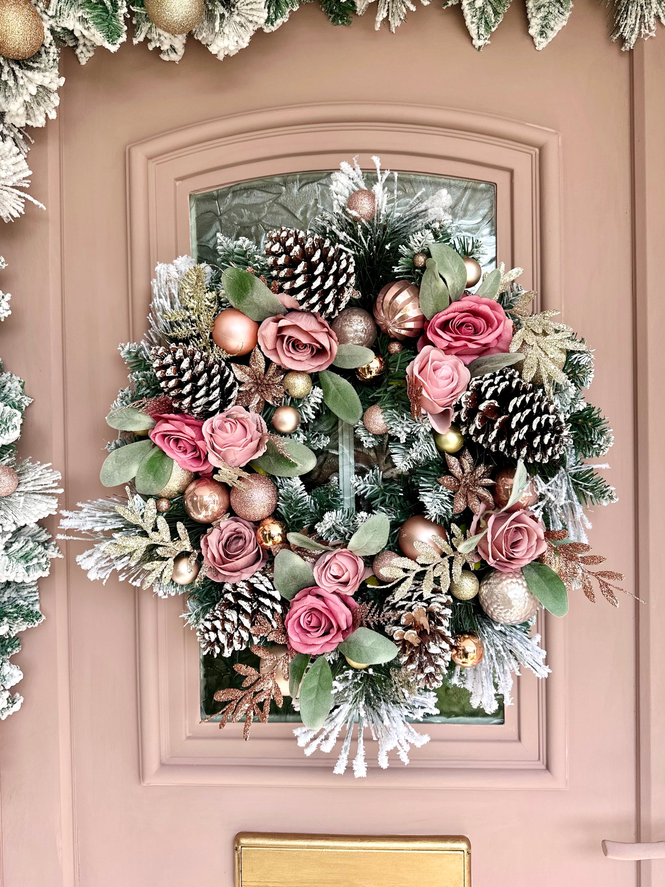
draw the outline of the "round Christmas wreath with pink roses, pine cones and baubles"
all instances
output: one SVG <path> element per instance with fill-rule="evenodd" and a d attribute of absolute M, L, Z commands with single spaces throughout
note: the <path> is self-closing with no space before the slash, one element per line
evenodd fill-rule
<path fill-rule="evenodd" d="M 310 754 L 366 773 L 364 727 L 404 763 L 437 688 L 492 712 L 549 669 L 536 610 L 581 589 L 618 605 L 583 507 L 611 429 L 586 342 L 533 314 L 521 269 L 481 273 L 450 197 L 401 199 L 376 160 L 332 175 L 332 210 L 218 263 L 158 265 L 149 329 L 106 420 L 101 480 L 127 499 L 63 512 L 90 578 L 185 593 L 204 653 L 232 663 L 220 726 L 290 696 Z M 395 177 L 396 179 L 396 177 Z M 378 327 L 378 328 L 377 328 Z"/>

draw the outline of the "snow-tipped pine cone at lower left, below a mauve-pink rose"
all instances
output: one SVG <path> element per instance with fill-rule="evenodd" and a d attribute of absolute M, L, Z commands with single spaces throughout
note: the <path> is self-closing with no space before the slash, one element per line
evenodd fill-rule
<path fill-rule="evenodd" d="M 197 627 L 201 649 L 215 656 L 244 650 L 258 616 L 265 616 L 274 628 L 275 617 L 282 615 L 280 601 L 280 594 L 263 572 L 254 573 L 244 582 L 225 582 L 222 599 Z"/>

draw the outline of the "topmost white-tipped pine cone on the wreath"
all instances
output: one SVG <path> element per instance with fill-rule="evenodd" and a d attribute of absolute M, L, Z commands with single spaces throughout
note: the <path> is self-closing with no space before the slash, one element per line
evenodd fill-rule
<path fill-rule="evenodd" d="M 294 228 L 268 232 L 263 249 L 278 292 L 293 296 L 301 311 L 317 311 L 332 320 L 346 307 L 356 265 L 345 249 Z"/>

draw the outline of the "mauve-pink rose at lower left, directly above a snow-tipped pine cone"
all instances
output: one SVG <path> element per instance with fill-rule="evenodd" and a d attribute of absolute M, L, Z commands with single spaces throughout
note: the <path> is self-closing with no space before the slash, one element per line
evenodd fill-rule
<path fill-rule="evenodd" d="M 241 517 L 230 517 L 202 536 L 201 552 L 213 582 L 248 579 L 268 560 L 268 551 L 256 541 L 254 523 Z"/>

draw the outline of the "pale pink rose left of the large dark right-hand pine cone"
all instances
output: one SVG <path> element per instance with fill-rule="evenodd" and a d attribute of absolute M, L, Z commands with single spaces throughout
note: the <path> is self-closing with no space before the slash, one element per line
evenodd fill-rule
<path fill-rule="evenodd" d="M 423 389 L 421 405 L 434 431 L 445 434 L 452 420 L 451 405 L 466 390 L 471 373 L 459 357 L 426 345 L 406 368 L 406 374 Z"/>

